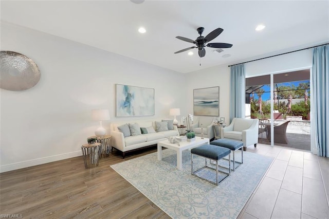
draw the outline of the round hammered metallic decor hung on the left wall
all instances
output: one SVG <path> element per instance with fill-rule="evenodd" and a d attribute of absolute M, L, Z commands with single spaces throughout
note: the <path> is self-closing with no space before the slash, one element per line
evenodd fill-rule
<path fill-rule="evenodd" d="M 0 87 L 27 90 L 40 80 L 40 71 L 32 59 L 13 51 L 0 51 Z"/>

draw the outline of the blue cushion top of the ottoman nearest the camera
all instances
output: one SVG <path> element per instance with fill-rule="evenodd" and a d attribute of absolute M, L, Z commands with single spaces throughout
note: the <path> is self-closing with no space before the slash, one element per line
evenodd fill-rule
<path fill-rule="evenodd" d="M 220 160 L 230 153 L 231 151 L 227 148 L 218 147 L 211 144 L 203 144 L 197 148 L 191 149 L 191 154 L 196 154 L 213 160 Z"/>

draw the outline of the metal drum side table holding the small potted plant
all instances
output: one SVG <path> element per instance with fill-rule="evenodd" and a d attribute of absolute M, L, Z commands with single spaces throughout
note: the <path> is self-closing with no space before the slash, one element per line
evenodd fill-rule
<path fill-rule="evenodd" d="M 92 166 L 98 167 L 101 143 L 83 144 L 81 146 L 81 151 L 84 160 L 84 167 L 86 169 Z"/>

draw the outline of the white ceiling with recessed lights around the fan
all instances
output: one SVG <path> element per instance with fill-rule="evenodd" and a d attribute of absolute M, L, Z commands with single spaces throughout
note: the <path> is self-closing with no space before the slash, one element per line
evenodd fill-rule
<path fill-rule="evenodd" d="M 182 73 L 329 42 L 329 1 L 1 1 L 1 20 Z M 175 36 L 195 40 L 198 27 L 223 28 L 211 43 L 233 47 L 174 54 L 194 45 Z"/>

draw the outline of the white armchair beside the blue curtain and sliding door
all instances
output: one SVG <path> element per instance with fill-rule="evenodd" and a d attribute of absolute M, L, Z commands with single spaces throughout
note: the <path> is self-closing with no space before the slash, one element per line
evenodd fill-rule
<path fill-rule="evenodd" d="M 243 142 L 243 150 L 258 143 L 258 119 L 233 118 L 229 126 L 221 129 L 221 138 L 237 140 Z"/>

